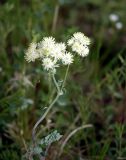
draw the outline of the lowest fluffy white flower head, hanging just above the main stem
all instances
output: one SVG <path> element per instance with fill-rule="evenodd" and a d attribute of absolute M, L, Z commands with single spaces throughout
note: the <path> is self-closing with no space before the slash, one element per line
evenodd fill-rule
<path fill-rule="evenodd" d="M 42 62 L 43 62 L 42 64 L 44 66 L 44 69 L 47 71 L 55 68 L 55 62 L 52 61 L 51 58 L 44 58 Z"/>

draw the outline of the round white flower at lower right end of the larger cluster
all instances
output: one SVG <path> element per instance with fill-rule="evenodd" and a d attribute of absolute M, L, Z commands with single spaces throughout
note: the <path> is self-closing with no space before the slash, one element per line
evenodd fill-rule
<path fill-rule="evenodd" d="M 70 52 L 67 52 L 62 57 L 62 62 L 64 65 L 69 65 L 73 63 L 73 55 Z"/>

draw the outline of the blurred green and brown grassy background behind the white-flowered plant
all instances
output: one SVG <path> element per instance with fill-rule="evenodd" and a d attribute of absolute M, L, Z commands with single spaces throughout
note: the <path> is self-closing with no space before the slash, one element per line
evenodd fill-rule
<path fill-rule="evenodd" d="M 39 137 L 55 129 L 63 135 L 47 159 L 56 159 L 65 137 L 84 124 L 93 127 L 71 137 L 60 160 L 126 158 L 125 26 L 125 0 L 0 0 L 0 160 L 23 159 L 54 94 L 42 66 L 24 59 L 29 43 L 43 36 L 67 41 L 78 31 L 90 37 L 90 55 L 76 58 L 65 94 L 40 126 Z"/>

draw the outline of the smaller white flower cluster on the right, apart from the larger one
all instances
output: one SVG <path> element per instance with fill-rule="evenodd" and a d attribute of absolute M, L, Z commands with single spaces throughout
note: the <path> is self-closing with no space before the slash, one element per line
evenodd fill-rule
<path fill-rule="evenodd" d="M 89 44 L 90 39 L 81 32 L 74 33 L 73 37 L 68 40 L 68 45 L 72 47 L 72 51 L 77 52 L 82 57 L 89 54 Z"/>

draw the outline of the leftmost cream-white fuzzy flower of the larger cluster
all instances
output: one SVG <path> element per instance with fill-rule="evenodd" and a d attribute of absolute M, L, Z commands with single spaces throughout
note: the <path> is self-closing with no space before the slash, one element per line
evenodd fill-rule
<path fill-rule="evenodd" d="M 39 58 L 39 54 L 37 52 L 37 44 L 31 43 L 28 50 L 25 53 L 25 59 L 28 62 L 34 62 L 37 58 Z"/>

